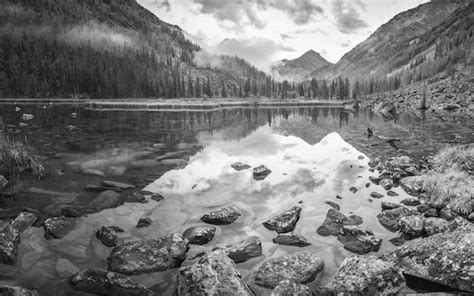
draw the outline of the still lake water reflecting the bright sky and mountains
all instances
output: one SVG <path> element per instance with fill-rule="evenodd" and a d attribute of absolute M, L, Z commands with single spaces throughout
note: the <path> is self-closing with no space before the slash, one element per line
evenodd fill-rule
<path fill-rule="evenodd" d="M 19 262 L 15 267 L 0 265 L 0 283 L 37 289 L 42 295 L 83 295 L 69 288 L 67 270 L 74 269 L 71 265 L 79 269 L 106 267 L 110 248 L 94 236 L 102 225 L 125 229 L 119 234 L 120 243 L 157 238 L 203 225 L 199 220 L 203 214 L 228 205 L 240 208 L 243 215 L 231 225 L 219 226 L 216 237 L 204 247 L 212 249 L 259 236 L 263 256 L 237 265 L 256 293 L 271 292 L 253 284 L 255 271 L 263 261 L 302 250 L 317 253 L 325 261 L 323 273 L 309 284 L 324 285 L 344 258 L 352 255 L 336 237 L 316 233 L 330 208 L 326 201 L 338 203 L 344 214 L 361 216 L 362 226 L 383 239 L 378 253 L 394 248 L 388 239 L 397 234 L 383 228 L 376 215 L 381 201 L 398 202 L 407 195 L 395 188 L 400 196 L 371 200 L 370 192 L 385 192 L 373 184 L 365 187 L 373 175 L 368 171 L 370 158 L 419 158 L 433 154 L 446 141 L 474 139 L 474 123 L 469 120 L 426 120 L 423 114 L 384 118 L 366 110 L 341 108 L 145 112 L 87 110 L 72 104 L 18 107 L 19 112 L 15 105 L 0 105 L 3 130 L 18 130 L 17 137 L 27 139 L 50 174 L 43 180 L 25 178 L 23 191 L 15 199 L 4 198 L 1 208 L 27 206 L 50 213 L 64 205 L 87 204 L 96 193 L 83 188 L 100 185 L 104 179 L 132 183 L 165 196 L 160 202 L 125 203 L 78 218 L 77 227 L 63 239 L 46 240 L 42 228 L 25 231 Z M 23 113 L 33 114 L 34 118 L 20 128 Z M 374 137 L 367 137 L 367 127 L 373 129 Z M 377 136 L 401 141 L 394 147 Z M 181 150 L 179 157 L 187 164 L 179 168 L 155 160 L 164 153 Z M 251 169 L 231 168 L 236 161 L 252 167 L 263 164 L 272 173 L 256 181 Z M 77 174 L 70 163 L 100 170 L 106 177 Z M 352 186 L 359 189 L 355 194 L 349 191 Z M 274 244 L 276 233 L 261 223 L 299 202 L 303 211 L 295 233 L 305 236 L 312 245 L 298 248 Z M 138 219 L 145 216 L 152 218 L 153 224 L 135 228 Z M 189 253 L 202 249 L 190 246 Z M 69 261 L 66 267 L 65 259 Z M 186 260 L 183 265 L 194 262 Z M 132 278 L 159 295 L 173 295 L 175 277 L 176 270 L 170 270 Z"/>

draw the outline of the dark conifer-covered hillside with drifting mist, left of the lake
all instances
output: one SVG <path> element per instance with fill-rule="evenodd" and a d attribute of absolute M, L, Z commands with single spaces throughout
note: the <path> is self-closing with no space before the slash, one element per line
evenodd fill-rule
<path fill-rule="evenodd" d="M 262 94 L 244 60 L 196 63 L 200 47 L 135 0 L 3 0 L 0 97 L 200 97 Z M 222 66 L 224 65 L 224 66 Z M 232 67 L 230 67 L 232 66 Z"/>

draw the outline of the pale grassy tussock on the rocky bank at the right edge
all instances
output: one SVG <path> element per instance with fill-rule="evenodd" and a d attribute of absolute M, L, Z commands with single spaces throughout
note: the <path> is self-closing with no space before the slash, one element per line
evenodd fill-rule
<path fill-rule="evenodd" d="M 422 176 L 429 203 L 436 208 L 448 206 L 461 215 L 471 213 L 473 168 L 473 144 L 441 149 L 433 159 L 432 170 Z"/>

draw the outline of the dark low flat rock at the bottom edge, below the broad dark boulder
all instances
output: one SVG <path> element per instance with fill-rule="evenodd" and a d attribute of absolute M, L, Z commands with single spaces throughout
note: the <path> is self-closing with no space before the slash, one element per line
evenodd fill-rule
<path fill-rule="evenodd" d="M 78 291 L 104 295 L 154 295 L 153 292 L 128 276 L 104 269 L 85 269 L 69 279 L 69 284 Z"/>

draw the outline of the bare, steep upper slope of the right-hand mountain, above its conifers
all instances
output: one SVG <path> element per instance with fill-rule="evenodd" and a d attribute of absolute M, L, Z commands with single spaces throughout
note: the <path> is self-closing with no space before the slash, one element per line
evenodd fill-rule
<path fill-rule="evenodd" d="M 417 54 L 432 46 L 433 42 L 426 43 L 424 40 L 437 38 L 436 30 L 441 30 L 439 26 L 454 12 L 462 13 L 467 10 L 466 7 L 471 9 L 469 2 L 432 1 L 402 12 L 345 54 L 335 65 L 316 70 L 308 78 L 333 79 L 339 75 L 352 79 L 378 77 L 402 67 L 410 67 L 416 63 Z M 466 14 L 471 15 L 472 21 L 472 12 L 467 10 Z M 448 25 L 443 24 L 444 27 Z M 420 42 L 424 44 L 423 48 L 419 46 Z"/>

